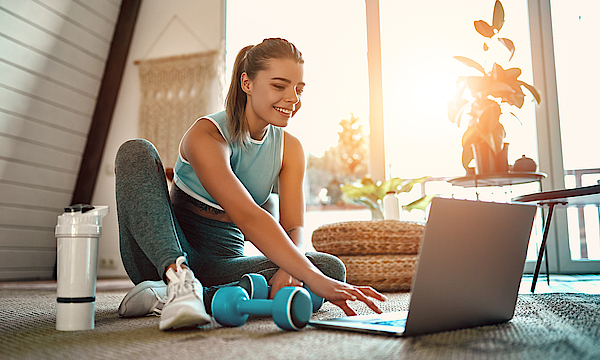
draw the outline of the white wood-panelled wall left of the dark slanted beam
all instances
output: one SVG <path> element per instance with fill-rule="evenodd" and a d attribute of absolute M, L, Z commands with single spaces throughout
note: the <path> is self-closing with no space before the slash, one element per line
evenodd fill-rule
<path fill-rule="evenodd" d="M 121 0 L 0 0 L 0 280 L 52 278 Z"/>

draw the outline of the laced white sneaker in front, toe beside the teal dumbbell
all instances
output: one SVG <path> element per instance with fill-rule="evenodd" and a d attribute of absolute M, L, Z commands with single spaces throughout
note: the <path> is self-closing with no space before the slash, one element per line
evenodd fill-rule
<path fill-rule="evenodd" d="M 161 330 L 210 323 L 211 317 L 204 308 L 202 285 L 190 269 L 181 267 L 184 261 L 185 257 L 180 256 L 175 262 L 177 271 L 167 270 L 168 296 L 160 316 L 159 329 Z"/>

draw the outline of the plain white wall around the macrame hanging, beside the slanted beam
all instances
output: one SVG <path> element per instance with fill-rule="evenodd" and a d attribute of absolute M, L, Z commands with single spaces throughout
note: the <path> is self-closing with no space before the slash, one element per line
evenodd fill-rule
<path fill-rule="evenodd" d="M 225 0 L 142 2 L 92 199 L 93 205 L 110 207 L 102 226 L 98 277 L 127 276 L 119 252 L 114 159 L 123 142 L 138 137 L 140 90 L 138 69 L 133 62 L 221 49 L 225 39 L 224 3 Z M 215 111 L 223 106 L 218 91 L 215 89 Z"/>

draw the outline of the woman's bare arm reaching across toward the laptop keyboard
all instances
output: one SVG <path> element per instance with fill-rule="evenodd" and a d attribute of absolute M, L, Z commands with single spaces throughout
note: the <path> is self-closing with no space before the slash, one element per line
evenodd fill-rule
<path fill-rule="evenodd" d="M 190 129 L 182 143 L 182 155 L 190 162 L 208 193 L 221 205 L 242 233 L 252 239 L 253 244 L 271 261 L 294 278 L 307 283 L 315 294 L 340 306 L 347 314 L 352 314 L 353 311 L 346 301 L 356 299 L 380 312 L 368 296 L 383 300 L 385 298 L 382 295 L 368 287 L 354 287 L 326 277 L 291 241 L 283 227 L 292 229 L 296 225 L 303 225 L 303 215 L 302 222 L 296 224 L 299 219 L 293 214 L 297 210 L 286 210 L 288 195 L 285 180 L 281 194 L 282 227 L 254 202 L 235 176 L 229 164 L 229 147 L 211 122 L 201 120 Z M 285 171 L 286 169 L 282 168 L 282 174 Z M 304 171 L 303 166 L 301 171 Z M 303 213 L 303 207 L 301 210 Z M 292 233 L 292 237 L 297 238 L 297 235 Z"/>

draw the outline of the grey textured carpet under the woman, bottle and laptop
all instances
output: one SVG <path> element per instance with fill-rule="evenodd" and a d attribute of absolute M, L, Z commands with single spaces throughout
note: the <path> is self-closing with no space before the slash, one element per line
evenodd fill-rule
<path fill-rule="evenodd" d="M 165 333 L 156 317 L 120 319 L 125 293 L 98 292 L 94 330 L 61 332 L 54 291 L 0 291 L 0 359 L 600 359 L 600 295 L 521 295 L 505 324 L 391 338 L 311 327 L 285 332 L 266 317 L 238 328 L 213 323 Z M 408 294 L 388 296 L 384 311 L 408 308 Z M 314 316 L 341 315 L 325 304 Z"/>

